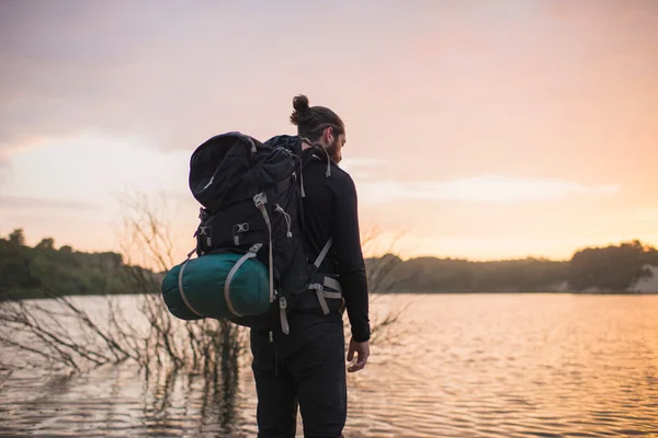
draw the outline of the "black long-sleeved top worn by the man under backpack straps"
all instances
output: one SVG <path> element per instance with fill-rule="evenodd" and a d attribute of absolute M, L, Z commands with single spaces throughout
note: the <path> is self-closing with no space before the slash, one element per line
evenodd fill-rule
<path fill-rule="evenodd" d="M 297 153 L 300 151 L 299 137 L 281 136 L 274 142 Z M 315 261 L 329 238 L 333 238 L 331 251 L 319 272 L 339 276 L 352 336 L 356 342 L 365 342 L 370 339 L 371 328 L 356 187 L 352 177 L 334 162 L 330 163 L 330 176 L 327 176 L 326 158 L 313 157 L 318 153 L 321 155 L 313 149 L 302 152 L 305 247 L 309 261 Z"/>

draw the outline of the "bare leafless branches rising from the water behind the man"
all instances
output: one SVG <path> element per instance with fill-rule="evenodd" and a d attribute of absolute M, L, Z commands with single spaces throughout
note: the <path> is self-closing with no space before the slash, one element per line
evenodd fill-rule
<path fill-rule="evenodd" d="M 117 262 L 106 274 L 136 295 L 99 298 L 103 318 L 94 318 L 78 297 L 48 287 L 43 290 L 48 301 L 0 302 L 0 345 L 73 370 L 132 359 L 147 371 L 157 367 L 232 376 L 238 359 L 248 351 L 248 330 L 212 319 L 185 322 L 171 315 L 160 292 L 161 274 L 140 267 L 155 266 L 162 273 L 174 265 L 169 223 L 145 197 L 123 200 L 120 245 L 124 263 Z M 364 247 L 377 235 L 367 234 Z M 396 285 L 393 273 L 400 260 L 392 249 L 388 254 L 367 266 L 373 291 L 392 291 Z M 31 268 L 29 261 L 25 266 Z M 378 299 L 378 295 L 371 297 L 373 302 Z M 404 308 L 396 308 L 382 319 L 374 318 L 373 342 L 394 339 L 390 327 L 402 312 Z"/>

